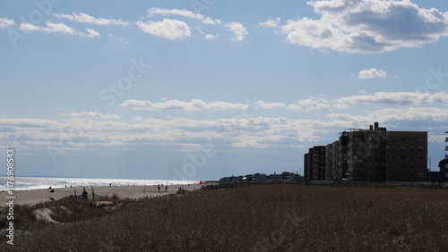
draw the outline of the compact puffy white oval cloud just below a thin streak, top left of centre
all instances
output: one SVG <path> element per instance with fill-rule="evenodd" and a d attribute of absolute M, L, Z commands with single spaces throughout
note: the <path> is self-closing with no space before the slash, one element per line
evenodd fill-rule
<path fill-rule="evenodd" d="M 137 21 L 137 26 L 144 33 L 168 39 L 179 39 L 191 37 L 191 31 L 184 21 L 163 19 L 163 21 Z"/>

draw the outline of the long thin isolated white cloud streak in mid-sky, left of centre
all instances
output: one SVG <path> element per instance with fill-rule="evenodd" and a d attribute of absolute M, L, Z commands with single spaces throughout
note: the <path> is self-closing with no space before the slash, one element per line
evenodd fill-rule
<path fill-rule="evenodd" d="M 246 109 L 249 105 L 231 104 L 227 102 L 204 102 L 199 99 L 192 99 L 189 102 L 179 100 L 168 100 L 161 103 L 151 103 L 150 101 L 127 100 L 118 105 L 120 107 L 131 107 L 133 110 L 184 110 L 184 111 L 201 111 L 201 110 L 233 110 Z"/>

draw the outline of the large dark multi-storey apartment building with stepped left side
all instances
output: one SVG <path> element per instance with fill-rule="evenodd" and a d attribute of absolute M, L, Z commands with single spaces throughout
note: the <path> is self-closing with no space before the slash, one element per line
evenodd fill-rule
<path fill-rule="evenodd" d="M 304 155 L 306 181 L 426 181 L 427 131 L 349 129 Z"/>

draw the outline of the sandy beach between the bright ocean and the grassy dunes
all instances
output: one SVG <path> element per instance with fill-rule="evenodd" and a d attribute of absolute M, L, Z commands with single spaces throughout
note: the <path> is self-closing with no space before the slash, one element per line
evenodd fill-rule
<path fill-rule="evenodd" d="M 112 197 L 116 195 L 120 198 L 134 198 L 138 199 L 141 197 L 155 197 L 155 196 L 163 196 L 167 194 L 177 193 L 179 187 L 185 190 L 194 190 L 201 189 L 202 185 L 199 184 L 190 184 L 190 185 L 168 185 L 168 191 L 165 191 L 165 187 L 160 188 L 160 192 L 157 189 L 157 185 L 151 186 L 103 186 L 103 187 L 94 187 L 93 191 L 96 196 L 108 196 Z M 82 195 L 83 187 L 73 187 L 73 188 L 56 188 L 55 192 L 50 192 L 50 189 L 37 189 L 37 190 L 14 190 L 13 195 L 8 195 L 7 192 L 0 192 L 0 206 L 6 206 L 6 202 L 12 198 L 6 198 L 9 196 L 14 196 L 14 204 L 15 205 L 36 205 L 41 202 L 47 202 L 50 200 L 50 197 L 53 197 L 55 200 L 58 200 L 62 197 L 67 197 L 70 195 L 74 195 L 74 190 L 76 190 L 76 195 Z M 86 186 L 85 190 L 91 195 L 91 187 Z"/>

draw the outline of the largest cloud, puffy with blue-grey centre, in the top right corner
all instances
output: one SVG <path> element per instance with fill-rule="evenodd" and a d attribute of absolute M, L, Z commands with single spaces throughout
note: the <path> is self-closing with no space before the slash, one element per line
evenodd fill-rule
<path fill-rule="evenodd" d="M 329 0 L 307 2 L 319 20 L 288 21 L 289 43 L 347 53 L 383 53 L 422 46 L 447 36 L 448 13 L 410 1 Z"/>

